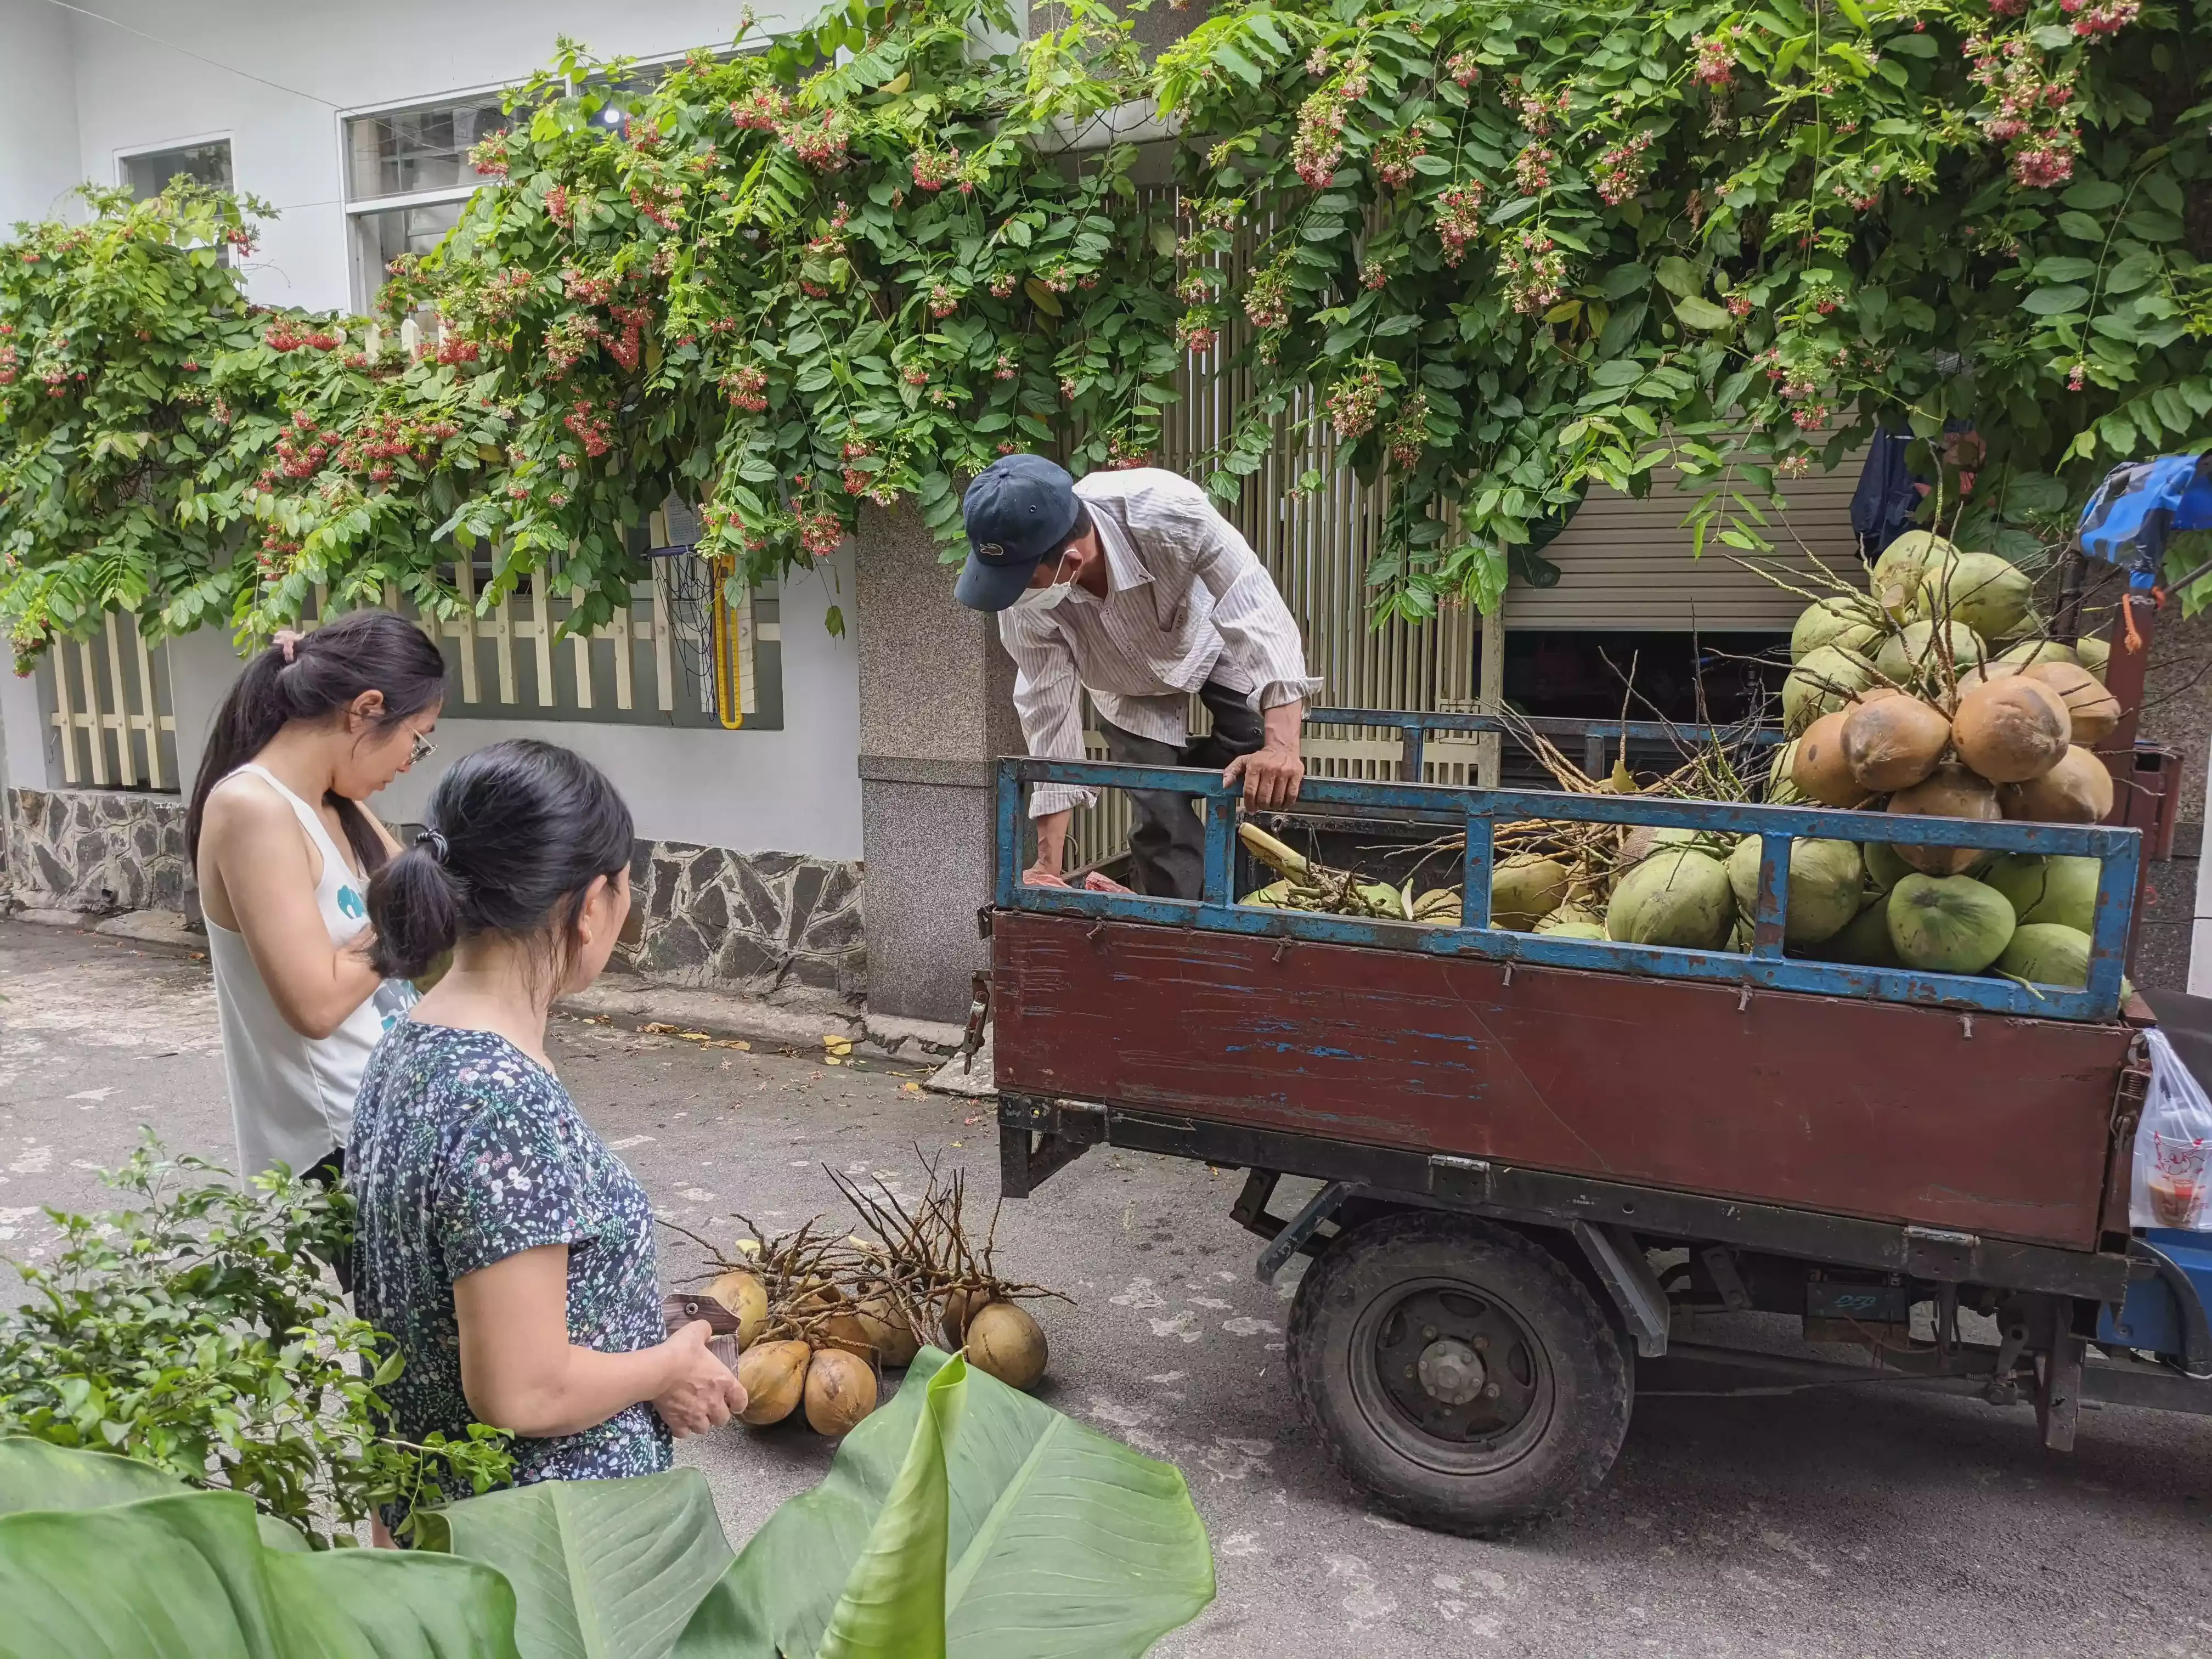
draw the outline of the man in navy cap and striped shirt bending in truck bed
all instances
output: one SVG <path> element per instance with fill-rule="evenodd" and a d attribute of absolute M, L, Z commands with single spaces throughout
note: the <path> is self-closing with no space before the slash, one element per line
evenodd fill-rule
<path fill-rule="evenodd" d="M 1298 799 L 1298 721 L 1321 681 L 1283 595 L 1206 491 L 1157 467 L 1075 480 L 1044 456 L 1004 456 L 969 484 L 964 511 L 956 595 L 998 613 L 1031 754 L 1084 759 L 1088 690 L 1115 761 L 1219 765 L 1256 810 Z M 1214 723 L 1194 741 L 1192 692 Z M 1062 880 L 1068 818 L 1091 799 L 1060 783 L 1033 792 L 1024 880 Z M 1130 803 L 1137 891 L 1199 898 L 1206 838 L 1190 796 L 1130 790 Z"/>

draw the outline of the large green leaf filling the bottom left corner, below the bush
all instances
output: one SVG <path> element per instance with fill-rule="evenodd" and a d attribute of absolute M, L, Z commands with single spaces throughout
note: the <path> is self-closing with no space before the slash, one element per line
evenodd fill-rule
<path fill-rule="evenodd" d="M 518 1659 L 491 1568 L 272 1551 L 221 1491 L 0 1517 L 0 1659 Z"/>

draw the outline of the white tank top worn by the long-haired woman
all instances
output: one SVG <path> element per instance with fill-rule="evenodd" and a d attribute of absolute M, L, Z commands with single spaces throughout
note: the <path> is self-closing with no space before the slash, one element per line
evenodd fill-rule
<path fill-rule="evenodd" d="M 228 787 L 230 779 L 246 772 L 292 805 L 323 854 L 314 907 L 323 914 L 330 942 L 345 945 L 367 927 L 365 883 L 330 838 L 323 814 L 268 768 L 246 763 L 217 787 Z M 230 1082 L 230 1124 L 239 1137 L 239 1175 L 257 1175 L 276 1161 L 301 1175 L 345 1146 L 369 1051 L 416 1002 L 416 991 L 400 980 L 385 980 L 327 1037 L 303 1037 L 276 1011 L 243 933 L 208 918 L 208 960 L 215 967 L 215 1006 L 223 1020 L 223 1075 Z"/>

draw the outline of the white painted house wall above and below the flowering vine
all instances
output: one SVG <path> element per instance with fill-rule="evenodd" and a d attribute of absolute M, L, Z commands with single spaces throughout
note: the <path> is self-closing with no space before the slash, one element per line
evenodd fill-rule
<path fill-rule="evenodd" d="M 104 0 L 100 11 L 113 22 L 46 0 L 0 0 L 0 219 L 49 212 L 82 177 L 113 184 L 126 153 L 228 137 L 237 188 L 279 212 L 248 268 L 250 292 L 272 305 L 341 310 L 352 305 L 347 111 L 511 84 L 551 60 L 557 35 L 626 58 L 728 44 L 739 7 L 385 0 L 372 11 L 327 0 Z M 812 7 L 785 0 L 759 11 L 774 24 Z M 783 591 L 781 732 L 449 719 L 434 761 L 376 805 L 387 818 L 420 818 L 453 759 L 502 737 L 542 737 L 602 765 L 648 841 L 858 858 L 858 670 L 854 641 L 823 626 L 832 604 L 854 615 L 849 553 Z M 190 785 L 237 661 L 217 635 L 179 641 L 170 657 Z M 9 781 L 49 787 L 51 743 L 31 681 L 0 684 L 0 719 Z"/>

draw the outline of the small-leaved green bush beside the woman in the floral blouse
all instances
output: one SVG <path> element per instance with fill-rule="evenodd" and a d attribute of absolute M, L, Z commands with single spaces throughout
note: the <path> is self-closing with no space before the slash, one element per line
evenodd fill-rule
<path fill-rule="evenodd" d="M 504 1436 L 411 1444 L 376 1389 L 400 1358 L 336 1296 L 323 1263 L 354 1206 L 285 1172 L 234 1186 L 148 1133 L 104 1177 L 135 1199 L 49 1210 L 51 1265 L 15 1263 L 29 1298 L 0 1314 L 0 1436 L 115 1451 L 192 1486 L 243 1493 L 316 1546 L 425 1482 L 489 1491 Z"/>

